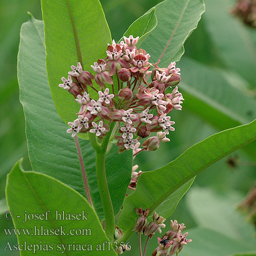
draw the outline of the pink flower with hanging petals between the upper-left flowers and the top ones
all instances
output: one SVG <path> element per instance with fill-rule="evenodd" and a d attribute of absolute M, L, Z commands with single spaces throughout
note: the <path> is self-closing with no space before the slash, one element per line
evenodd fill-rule
<path fill-rule="evenodd" d="M 98 83 L 100 89 L 104 87 L 104 82 L 113 84 L 113 79 L 110 76 L 109 72 L 106 71 L 106 62 L 103 59 L 98 59 L 97 62 L 94 62 L 94 66 L 91 65 L 93 71 L 95 72 L 95 80 Z"/>

